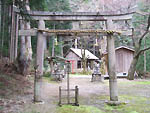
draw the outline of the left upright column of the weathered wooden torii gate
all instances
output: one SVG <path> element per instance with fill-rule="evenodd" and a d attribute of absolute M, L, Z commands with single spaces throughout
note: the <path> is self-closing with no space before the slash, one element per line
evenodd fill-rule
<path fill-rule="evenodd" d="M 39 20 L 39 29 L 45 29 L 44 20 Z M 34 80 L 34 102 L 42 101 L 42 75 L 43 75 L 43 61 L 44 61 L 44 36 L 43 32 L 38 32 L 37 35 L 37 51 L 36 51 L 36 66 L 37 74 Z"/>

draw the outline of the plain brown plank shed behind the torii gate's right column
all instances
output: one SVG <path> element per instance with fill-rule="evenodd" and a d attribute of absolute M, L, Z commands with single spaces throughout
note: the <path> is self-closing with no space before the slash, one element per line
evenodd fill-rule
<path fill-rule="evenodd" d="M 120 46 L 115 49 L 115 52 L 116 52 L 116 72 L 128 73 L 128 69 L 133 60 L 134 50 L 125 46 Z M 108 64 L 107 53 L 104 55 L 104 57 L 105 57 L 105 64 L 107 65 Z"/>

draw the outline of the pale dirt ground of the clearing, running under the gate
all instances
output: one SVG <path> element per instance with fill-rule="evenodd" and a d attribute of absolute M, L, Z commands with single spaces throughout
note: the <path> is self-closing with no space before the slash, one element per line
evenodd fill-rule
<path fill-rule="evenodd" d="M 129 106 L 129 112 L 122 112 L 117 108 L 110 108 L 105 104 L 106 100 L 109 100 L 109 81 L 103 82 L 96 81 L 91 82 L 91 76 L 72 76 L 70 78 L 70 88 L 79 87 L 79 104 L 97 107 L 105 113 L 130 113 L 130 111 L 136 111 L 136 107 L 144 105 L 134 113 L 150 113 L 150 81 L 149 80 L 134 80 L 128 81 L 126 79 L 118 79 L 118 91 L 119 100 L 125 101 L 126 106 L 122 107 L 124 111 Z M 42 86 L 42 99 L 43 104 L 33 104 L 33 94 L 20 97 L 23 100 L 23 104 L 19 109 L 12 110 L 10 113 L 55 113 L 58 109 L 58 89 L 61 86 L 63 89 L 67 87 L 66 79 L 62 82 L 49 81 L 44 78 Z M 66 95 L 63 93 L 63 95 Z M 71 94 L 73 96 L 73 94 Z M 136 106 L 136 107 L 135 107 Z M 1 108 L 4 109 L 4 108 Z M 144 111 L 144 112 L 143 112 Z M 1 112 L 0 112 L 1 113 Z M 2 113 L 8 113 L 3 111 Z"/>

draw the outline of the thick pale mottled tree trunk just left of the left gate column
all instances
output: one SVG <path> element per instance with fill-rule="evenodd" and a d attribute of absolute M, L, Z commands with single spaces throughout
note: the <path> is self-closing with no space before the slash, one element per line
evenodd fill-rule
<path fill-rule="evenodd" d="M 26 0 L 26 9 L 30 10 L 29 1 Z M 30 29 L 30 22 L 21 21 L 21 29 Z M 17 47 L 17 40 L 16 40 Z M 17 50 L 16 50 L 17 51 Z M 21 36 L 21 48 L 18 56 L 18 68 L 24 76 L 28 74 L 32 60 L 31 36 Z"/>

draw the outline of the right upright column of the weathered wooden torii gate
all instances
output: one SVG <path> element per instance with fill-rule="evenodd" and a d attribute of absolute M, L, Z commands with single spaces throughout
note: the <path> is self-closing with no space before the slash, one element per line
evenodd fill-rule
<path fill-rule="evenodd" d="M 113 29 L 113 21 L 107 20 L 107 29 Z M 110 101 L 118 101 L 118 87 L 116 76 L 116 56 L 115 56 L 115 44 L 113 34 L 107 36 L 107 49 L 108 49 L 108 74 L 109 74 L 109 90 Z"/>

